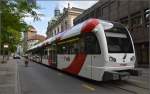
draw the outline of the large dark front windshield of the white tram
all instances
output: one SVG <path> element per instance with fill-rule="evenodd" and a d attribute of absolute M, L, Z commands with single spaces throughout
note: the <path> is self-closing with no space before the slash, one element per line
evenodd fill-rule
<path fill-rule="evenodd" d="M 131 39 L 123 26 L 105 30 L 109 53 L 133 53 Z"/>

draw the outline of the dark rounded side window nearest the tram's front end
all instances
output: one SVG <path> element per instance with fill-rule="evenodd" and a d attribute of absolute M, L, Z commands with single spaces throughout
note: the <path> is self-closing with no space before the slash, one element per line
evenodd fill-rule
<path fill-rule="evenodd" d="M 85 52 L 87 54 L 100 54 L 100 46 L 97 40 L 97 37 L 94 33 L 86 33 L 84 34 L 84 42 L 85 42 Z"/>

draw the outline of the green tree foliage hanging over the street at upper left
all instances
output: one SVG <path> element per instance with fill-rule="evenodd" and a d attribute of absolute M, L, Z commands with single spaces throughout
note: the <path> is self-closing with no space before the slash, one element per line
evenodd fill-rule
<path fill-rule="evenodd" d="M 9 44 L 9 50 L 14 52 L 21 40 L 21 33 L 27 30 L 28 25 L 23 21 L 27 14 L 39 20 L 35 9 L 36 4 L 29 4 L 27 0 L 0 0 L 1 32 L 0 45 Z"/>

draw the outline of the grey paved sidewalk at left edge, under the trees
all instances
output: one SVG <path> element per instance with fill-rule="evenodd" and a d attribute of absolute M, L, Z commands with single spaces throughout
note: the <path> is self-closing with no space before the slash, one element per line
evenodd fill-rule
<path fill-rule="evenodd" d="M 17 62 L 12 58 L 7 63 L 0 63 L 0 94 L 19 94 L 17 69 Z"/>

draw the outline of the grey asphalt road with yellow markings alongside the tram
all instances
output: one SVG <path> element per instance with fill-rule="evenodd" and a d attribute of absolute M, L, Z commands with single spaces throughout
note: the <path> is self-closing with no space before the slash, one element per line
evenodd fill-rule
<path fill-rule="evenodd" d="M 30 62 L 18 60 L 21 94 L 137 94 L 110 82 L 93 82 Z"/>

